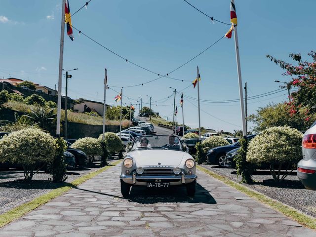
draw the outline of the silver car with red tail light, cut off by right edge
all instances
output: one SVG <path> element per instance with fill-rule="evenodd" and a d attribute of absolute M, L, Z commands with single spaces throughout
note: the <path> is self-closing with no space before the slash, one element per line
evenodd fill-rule
<path fill-rule="evenodd" d="M 303 159 L 297 164 L 297 177 L 306 189 L 316 190 L 316 121 L 302 139 Z"/>

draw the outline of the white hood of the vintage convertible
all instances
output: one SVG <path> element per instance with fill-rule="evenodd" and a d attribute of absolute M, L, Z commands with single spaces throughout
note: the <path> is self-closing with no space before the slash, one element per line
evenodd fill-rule
<path fill-rule="evenodd" d="M 136 166 L 149 166 L 149 165 L 168 165 L 179 166 L 183 158 L 186 157 L 186 152 L 171 151 L 171 150 L 142 150 L 133 151 L 127 154 L 131 156 L 136 163 Z M 190 155 L 189 155 L 190 156 Z M 191 156 L 190 156 L 191 157 Z"/>

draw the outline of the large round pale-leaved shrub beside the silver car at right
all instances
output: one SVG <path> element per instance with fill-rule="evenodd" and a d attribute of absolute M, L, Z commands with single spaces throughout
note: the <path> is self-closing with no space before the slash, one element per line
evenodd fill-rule
<path fill-rule="evenodd" d="M 303 134 L 288 126 L 270 127 L 249 142 L 247 161 L 260 165 L 268 163 L 274 180 L 280 179 L 280 170 L 286 169 L 283 180 L 302 159 Z M 277 174 L 276 174 L 277 169 Z M 287 170 L 291 170 L 287 172 Z"/>

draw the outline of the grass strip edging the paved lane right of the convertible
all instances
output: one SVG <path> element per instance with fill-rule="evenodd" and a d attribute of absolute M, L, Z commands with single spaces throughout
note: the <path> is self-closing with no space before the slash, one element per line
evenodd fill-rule
<path fill-rule="evenodd" d="M 261 194 L 257 191 L 250 189 L 250 188 L 247 188 L 242 184 L 238 184 L 235 181 L 232 181 L 223 175 L 216 174 L 216 173 L 214 173 L 208 169 L 205 169 L 199 165 L 197 166 L 197 168 L 200 171 L 212 176 L 213 178 L 218 179 L 218 180 L 224 182 L 225 184 L 237 189 L 241 193 L 244 193 L 245 195 L 247 195 L 249 197 L 252 197 L 260 202 L 263 202 L 263 203 L 271 206 L 273 209 L 283 213 L 285 216 L 290 217 L 293 220 L 297 221 L 302 226 L 305 226 L 307 228 L 314 229 L 314 230 L 316 229 L 316 218 L 311 217 L 309 215 L 306 215 L 306 214 L 294 209 L 293 207 L 285 205 L 285 204 L 283 204 L 283 203 L 281 203 L 281 202 L 279 202 L 271 197 L 268 197 L 264 194 Z"/>

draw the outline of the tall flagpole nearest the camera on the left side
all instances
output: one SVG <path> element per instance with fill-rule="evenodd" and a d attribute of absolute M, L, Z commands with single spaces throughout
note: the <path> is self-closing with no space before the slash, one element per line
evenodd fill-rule
<path fill-rule="evenodd" d="M 62 13 L 61 13 L 60 49 L 59 49 L 57 124 L 56 124 L 57 137 L 60 137 L 61 88 L 62 88 L 62 75 L 63 75 L 64 34 L 65 34 L 65 4 L 66 4 L 66 0 L 63 0 L 62 7 L 61 7 Z"/>

